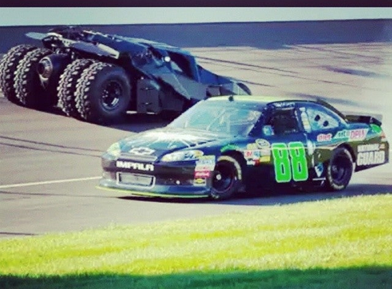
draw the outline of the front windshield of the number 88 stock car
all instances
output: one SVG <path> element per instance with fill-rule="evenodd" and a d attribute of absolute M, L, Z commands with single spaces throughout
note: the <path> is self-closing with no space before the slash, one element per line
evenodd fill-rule
<path fill-rule="evenodd" d="M 218 101 L 200 101 L 181 114 L 168 127 L 184 127 L 248 136 L 261 112 L 253 105 Z"/>

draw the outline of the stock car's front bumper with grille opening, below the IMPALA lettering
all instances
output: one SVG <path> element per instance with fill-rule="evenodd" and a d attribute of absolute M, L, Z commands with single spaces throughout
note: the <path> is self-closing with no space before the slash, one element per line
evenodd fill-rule
<path fill-rule="evenodd" d="M 147 168 L 152 163 L 143 163 Z M 195 179 L 194 162 L 153 163 L 153 171 L 118 168 L 116 160 L 102 160 L 103 174 L 99 188 L 120 190 L 127 194 L 166 198 L 209 197 L 211 178 Z"/>

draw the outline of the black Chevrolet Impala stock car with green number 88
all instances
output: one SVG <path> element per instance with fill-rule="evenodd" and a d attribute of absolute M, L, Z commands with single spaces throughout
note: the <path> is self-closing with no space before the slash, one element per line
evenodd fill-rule
<path fill-rule="evenodd" d="M 213 97 L 167 127 L 114 143 L 100 186 L 213 199 L 276 185 L 342 190 L 353 171 L 389 162 L 380 120 L 321 100 Z"/>

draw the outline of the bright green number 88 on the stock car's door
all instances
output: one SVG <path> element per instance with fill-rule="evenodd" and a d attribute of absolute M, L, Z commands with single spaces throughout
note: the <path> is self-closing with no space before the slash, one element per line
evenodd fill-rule
<path fill-rule="evenodd" d="M 278 183 L 306 181 L 308 166 L 306 164 L 305 147 L 302 142 L 276 142 L 271 146 L 274 156 L 275 179 Z"/>

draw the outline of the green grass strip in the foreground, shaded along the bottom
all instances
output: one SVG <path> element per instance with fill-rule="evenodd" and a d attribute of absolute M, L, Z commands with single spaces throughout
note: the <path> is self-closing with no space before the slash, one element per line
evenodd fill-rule
<path fill-rule="evenodd" d="M 0 288 L 392 288 L 392 194 L 0 240 Z"/>

